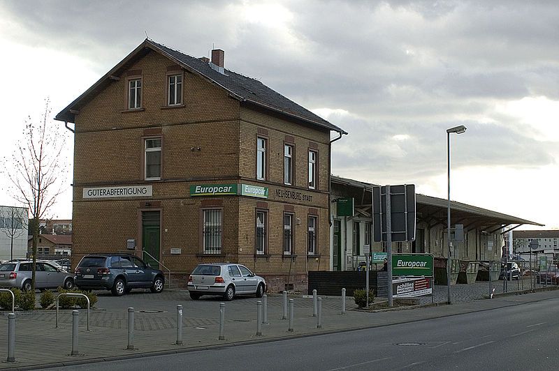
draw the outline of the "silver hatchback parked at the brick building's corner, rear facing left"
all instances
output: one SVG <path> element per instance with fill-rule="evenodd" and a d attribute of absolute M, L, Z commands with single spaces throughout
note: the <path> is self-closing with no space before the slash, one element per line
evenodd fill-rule
<path fill-rule="evenodd" d="M 240 294 L 261 298 L 266 292 L 266 280 L 241 264 L 198 264 L 188 278 L 188 291 L 192 300 L 202 295 L 221 295 L 226 301 Z"/>

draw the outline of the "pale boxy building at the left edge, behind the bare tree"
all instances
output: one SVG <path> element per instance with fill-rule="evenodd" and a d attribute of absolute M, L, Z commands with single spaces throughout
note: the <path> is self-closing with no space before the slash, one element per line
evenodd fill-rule
<path fill-rule="evenodd" d="M 0 206 L 0 259 L 24 258 L 27 252 L 27 209 Z"/>

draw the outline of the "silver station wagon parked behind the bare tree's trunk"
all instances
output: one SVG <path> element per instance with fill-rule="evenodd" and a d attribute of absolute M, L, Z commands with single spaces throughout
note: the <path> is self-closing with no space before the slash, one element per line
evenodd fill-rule
<path fill-rule="evenodd" d="M 17 289 L 31 289 L 31 260 L 20 262 L 12 261 L 0 264 L 0 287 L 15 287 Z M 73 274 L 49 262 L 36 262 L 35 288 L 36 289 L 73 289 Z"/>

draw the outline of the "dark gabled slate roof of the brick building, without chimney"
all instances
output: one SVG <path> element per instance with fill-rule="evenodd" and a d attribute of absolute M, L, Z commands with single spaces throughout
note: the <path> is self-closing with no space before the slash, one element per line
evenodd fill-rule
<path fill-rule="evenodd" d="M 112 68 L 105 76 L 101 77 L 91 88 L 87 89 L 80 97 L 74 100 L 68 107 L 64 108 L 55 119 L 59 121 L 74 122 L 75 111 L 78 111 L 82 105 L 85 105 L 91 98 L 91 95 L 98 93 L 111 82 L 112 76 L 119 75 L 124 72 L 129 65 L 138 57 L 146 54 L 146 50 L 154 50 L 169 59 L 175 61 L 183 68 L 189 70 L 207 79 L 208 81 L 220 86 L 230 93 L 230 95 L 240 100 L 242 103 L 256 105 L 264 109 L 284 114 L 293 119 L 300 119 L 314 126 L 319 126 L 328 130 L 334 130 L 342 134 L 347 134 L 341 128 L 322 119 L 320 116 L 313 114 L 305 107 L 298 105 L 289 98 L 282 96 L 268 86 L 262 84 L 259 80 L 240 75 L 231 70 L 224 70 L 224 74 L 217 72 L 210 67 L 210 63 L 202 59 L 189 56 L 178 50 L 171 49 L 165 45 L 155 43 L 153 40 L 146 39 L 140 44 L 136 50 L 131 52 L 117 66 Z"/>

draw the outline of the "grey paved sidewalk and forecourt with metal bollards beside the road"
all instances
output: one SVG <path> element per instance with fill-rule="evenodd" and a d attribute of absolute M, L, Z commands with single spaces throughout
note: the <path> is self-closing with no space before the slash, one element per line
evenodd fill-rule
<path fill-rule="evenodd" d="M 129 297 L 129 298 L 128 298 Z M 182 290 L 162 294 L 130 294 L 121 298 L 99 297 L 99 309 L 91 312 L 90 330 L 86 331 L 86 311 L 80 310 L 79 356 L 71 356 L 71 310 L 61 310 L 59 328 L 55 328 L 55 311 L 17 312 L 15 325 L 15 362 L 6 362 L 8 349 L 8 317 L 0 317 L 0 369 L 28 370 L 47 365 L 72 365 L 114 360 L 135 356 L 168 354 L 212 347 L 240 345 L 308 336 L 318 333 L 349 331 L 421 321 L 468 312 L 491 310 L 510 305 L 559 297 L 559 291 L 499 296 L 492 300 L 456 302 L 408 310 L 363 312 L 347 298 L 347 312 L 341 315 L 341 298 L 327 297 L 322 305 L 322 328 L 312 317 L 312 298 L 294 299 L 293 332 L 289 321 L 282 319 L 281 295 L 268 296 L 269 324 L 261 326 L 256 335 L 256 298 L 235 298 L 226 303 L 224 335 L 219 337 L 219 299 L 190 301 Z M 128 298 L 128 299 L 127 299 Z M 175 345 L 177 336 L 176 305 L 183 305 L 182 345 Z M 127 306 L 135 305 L 133 350 L 128 345 Z"/>

